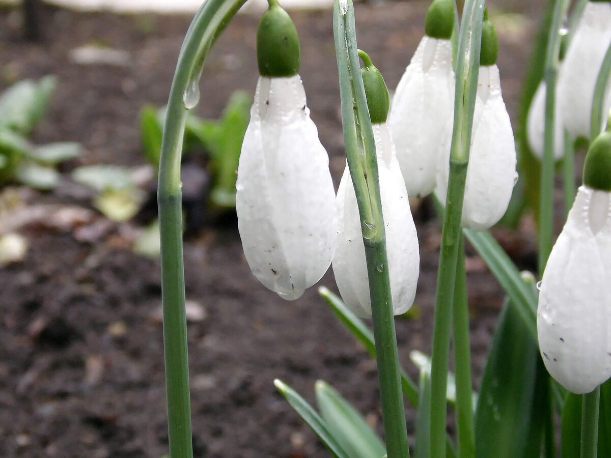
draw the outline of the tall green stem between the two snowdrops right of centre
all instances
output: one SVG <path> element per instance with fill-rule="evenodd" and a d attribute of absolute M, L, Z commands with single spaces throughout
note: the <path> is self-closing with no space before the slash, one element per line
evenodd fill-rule
<path fill-rule="evenodd" d="M 464 187 L 469 164 L 475 97 L 480 65 L 481 24 L 485 0 L 467 0 L 459 31 L 456 59 L 454 126 L 450 147 L 450 176 L 437 274 L 437 301 L 431 355 L 430 456 L 445 457 L 445 423 L 450 328 L 461 237 Z"/>

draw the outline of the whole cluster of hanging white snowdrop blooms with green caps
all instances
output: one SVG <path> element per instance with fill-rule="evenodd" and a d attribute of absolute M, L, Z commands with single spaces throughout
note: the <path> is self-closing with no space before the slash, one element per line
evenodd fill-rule
<path fill-rule="evenodd" d="M 265 23 L 275 15 L 286 13 L 271 1 L 268 18 L 263 17 L 259 29 L 260 78 L 236 184 L 244 253 L 258 280 L 289 300 L 300 297 L 332 264 L 345 304 L 358 316 L 371 316 L 364 238 L 375 228 L 367 227 L 359 216 L 348 166 L 335 194 L 328 156 L 310 119 L 298 74 L 298 42 L 287 49 L 265 47 Z M 453 24 L 453 2 L 434 1 L 426 35 L 392 104 L 379 71 L 367 54 L 359 53 L 375 136 L 395 314 L 411 307 L 419 275 L 408 196 L 435 192 L 445 202 L 455 98 Z M 563 129 L 574 136 L 590 134 L 591 100 L 610 42 L 611 5 L 588 2 L 560 71 L 557 157 L 562 155 Z M 462 219 L 463 227 L 474 230 L 499 221 L 518 180 L 497 49 L 494 27 L 485 13 Z M 540 155 L 544 92 L 542 85 L 529 116 L 530 143 Z M 606 112 L 611 106 L 611 98 L 607 99 Z M 549 373 L 574 393 L 588 393 L 611 376 L 610 157 L 611 134 L 603 133 L 590 147 L 584 184 L 541 283 L 537 320 L 541 354 Z"/>

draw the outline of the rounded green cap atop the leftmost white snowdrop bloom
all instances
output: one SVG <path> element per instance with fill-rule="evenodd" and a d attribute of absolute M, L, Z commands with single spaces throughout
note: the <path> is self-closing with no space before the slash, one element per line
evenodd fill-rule
<path fill-rule="evenodd" d="M 277 0 L 269 0 L 257 30 L 259 75 L 279 78 L 299 73 L 299 37 Z"/>

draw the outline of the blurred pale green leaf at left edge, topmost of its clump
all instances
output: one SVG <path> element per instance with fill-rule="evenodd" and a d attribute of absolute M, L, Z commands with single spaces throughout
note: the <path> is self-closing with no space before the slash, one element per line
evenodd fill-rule
<path fill-rule="evenodd" d="M 24 79 L 0 94 L 0 128 L 28 134 L 40 121 L 55 90 L 55 78 Z"/>

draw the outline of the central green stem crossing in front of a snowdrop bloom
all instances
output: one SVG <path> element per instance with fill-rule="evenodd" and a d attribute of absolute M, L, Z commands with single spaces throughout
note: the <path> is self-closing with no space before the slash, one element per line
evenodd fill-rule
<path fill-rule="evenodd" d="M 335 1 L 333 16 L 344 143 L 362 220 L 386 451 L 389 458 L 404 458 L 409 457 L 409 447 L 389 272 L 384 267 L 388 261 L 378 161 L 360 73 L 352 1 Z"/>

